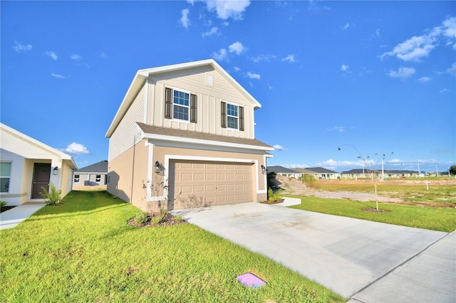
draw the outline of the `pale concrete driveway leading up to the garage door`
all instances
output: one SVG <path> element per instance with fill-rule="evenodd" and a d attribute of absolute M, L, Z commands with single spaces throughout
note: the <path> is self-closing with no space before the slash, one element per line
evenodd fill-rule
<path fill-rule="evenodd" d="M 394 294 L 393 298 L 382 297 L 394 287 L 398 293 L 405 292 L 402 302 L 455 302 L 456 299 L 455 233 L 448 235 L 261 203 L 192 208 L 172 213 L 280 262 L 343 297 L 351 298 L 352 302 L 358 302 L 357 296 L 360 302 L 401 302 Z M 444 245 L 437 243 L 441 239 L 444 239 Z M 411 277 L 420 274 L 420 270 L 416 270 L 423 263 L 423 260 L 419 261 L 420 257 L 426 253 L 435 255 L 432 252 L 434 244 L 442 246 L 438 251 L 449 252 L 443 253 L 444 258 L 432 257 L 432 262 L 425 262 L 425 266 L 421 266 L 421 272 L 425 271 L 421 277 Z M 410 267 L 398 273 L 400 268 L 413 265 L 415 260 L 418 260 L 418 266 L 412 266 L 414 270 Z M 444 272 L 439 268 L 442 266 L 447 267 Z M 382 285 L 392 275 L 396 278 Z M 447 281 L 440 289 L 429 280 L 435 275 L 444 275 L 439 280 Z M 428 288 L 423 289 L 426 283 L 419 285 L 420 297 L 413 297 L 413 281 L 416 280 L 428 282 Z M 375 292 L 380 287 L 384 287 L 383 292 Z M 436 290 L 440 291 L 439 299 L 434 295 Z"/>

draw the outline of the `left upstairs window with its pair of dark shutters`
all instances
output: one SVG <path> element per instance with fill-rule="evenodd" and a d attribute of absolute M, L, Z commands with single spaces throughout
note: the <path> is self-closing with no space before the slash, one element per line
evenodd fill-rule
<path fill-rule="evenodd" d="M 197 95 L 165 88 L 165 118 L 197 122 Z"/>

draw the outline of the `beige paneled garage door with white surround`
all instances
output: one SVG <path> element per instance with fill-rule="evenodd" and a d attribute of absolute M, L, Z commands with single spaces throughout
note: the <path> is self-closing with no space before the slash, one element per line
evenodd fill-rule
<path fill-rule="evenodd" d="M 171 161 L 173 209 L 253 201 L 253 164 Z"/>

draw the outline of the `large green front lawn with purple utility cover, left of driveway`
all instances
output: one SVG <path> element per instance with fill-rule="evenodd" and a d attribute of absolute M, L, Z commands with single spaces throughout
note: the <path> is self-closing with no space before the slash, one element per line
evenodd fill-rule
<path fill-rule="evenodd" d="M 103 191 L 73 191 L 0 230 L 0 302 L 346 301 L 190 223 L 128 225 L 136 213 Z M 241 285 L 246 272 L 267 285 Z"/>

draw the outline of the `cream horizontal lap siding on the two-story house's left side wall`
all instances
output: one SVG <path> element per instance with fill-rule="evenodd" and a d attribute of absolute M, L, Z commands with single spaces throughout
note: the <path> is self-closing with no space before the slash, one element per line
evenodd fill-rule
<path fill-rule="evenodd" d="M 133 101 L 109 139 L 108 161 L 115 159 L 132 147 L 133 144 L 137 144 L 141 141 L 136 122 L 144 122 L 144 97 L 145 86 L 142 86 L 140 92 L 138 92 L 138 95 L 135 97 L 135 101 Z M 134 143 L 133 140 L 135 141 Z"/>

